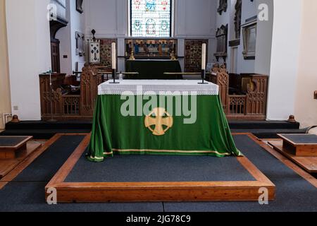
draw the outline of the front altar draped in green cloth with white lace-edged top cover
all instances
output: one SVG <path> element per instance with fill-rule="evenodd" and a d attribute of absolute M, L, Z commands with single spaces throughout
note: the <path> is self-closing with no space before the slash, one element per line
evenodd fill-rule
<path fill-rule="evenodd" d="M 218 86 L 198 82 L 125 80 L 99 85 L 87 158 L 102 162 L 116 154 L 242 155 Z"/>

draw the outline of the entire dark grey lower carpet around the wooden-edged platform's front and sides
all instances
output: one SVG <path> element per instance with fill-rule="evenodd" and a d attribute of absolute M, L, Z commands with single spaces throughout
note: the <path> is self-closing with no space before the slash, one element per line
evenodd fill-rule
<path fill-rule="evenodd" d="M 292 169 L 254 143 L 248 136 L 235 136 L 238 148 L 256 165 L 277 187 L 276 200 L 268 206 L 260 206 L 257 202 L 206 202 L 206 203 L 76 203 L 48 206 L 44 203 L 44 186 L 46 182 L 11 182 L 0 190 L 0 211 L 118 211 L 118 212 L 218 212 L 218 211 L 317 211 L 317 189 L 305 179 L 299 177 Z M 61 142 L 59 151 L 63 152 L 69 144 Z M 63 148 L 64 147 L 64 148 Z M 58 150 L 51 149 L 50 162 L 61 165 L 61 158 L 56 155 Z M 56 152 L 57 151 L 57 152 Z M 61 153 L 59 153 L 61 155 Z M 54 164 L 52 164 L 54 165 Z M 30 165 L 32 167 L 32 164 Z M 57 169 L 56 167 L 55 169 Z M 25 169 L 25 172 L 30 169 Z M 40 171 L 46 172 L 46 164 Z M 57 170 L 56 170 L 57 171 Z M 25 172 L 23 172 L 25 174 Z M 36 173 L 33 170 L 28 174 Z M 48 170 L 50 177 L 52 170 Z M 40 179 L 46 179 L 44 174 L 38 174 Z M 39 179 L 25 174 L 25 178 Z"/>

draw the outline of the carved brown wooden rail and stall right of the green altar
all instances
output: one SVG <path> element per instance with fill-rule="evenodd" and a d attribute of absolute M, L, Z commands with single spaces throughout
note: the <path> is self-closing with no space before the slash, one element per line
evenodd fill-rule
<path fill-rule="evenodd" d="M 213 67 L 207 76 L 209 81 L 219 85 L 223 109 L 229 120 L 266 120 L 268 76 L 247 75 L 249 83 L 243 95 L 229 95 L 230 76 L 223 66 Z"/>

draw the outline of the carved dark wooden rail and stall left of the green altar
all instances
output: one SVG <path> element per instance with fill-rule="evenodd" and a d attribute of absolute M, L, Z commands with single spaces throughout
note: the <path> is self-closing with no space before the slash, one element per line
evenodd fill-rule
<path fill-rule="evenodd" d="M 86 66 L 82 69 L 80 89 L 75 90 L 75 94 L 65 88 L 66 84 L 74 85 L 66 74 L 53 74 L 51 78 L 50 93 L 49 74 L 39 75 L 42 119 L 91 120 L 98 85 L 104 82 L 104 76 L 94 66 Z"/>

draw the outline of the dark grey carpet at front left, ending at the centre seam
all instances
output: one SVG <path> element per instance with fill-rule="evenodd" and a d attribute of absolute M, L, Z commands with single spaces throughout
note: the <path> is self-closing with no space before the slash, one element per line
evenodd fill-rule
<path fill-rule="evenodd" d="M 0 190 L 1 212 L 163 212 L 163 203 L 64 203 L 44 202 L 46 182 L 11 182 Z"/>

